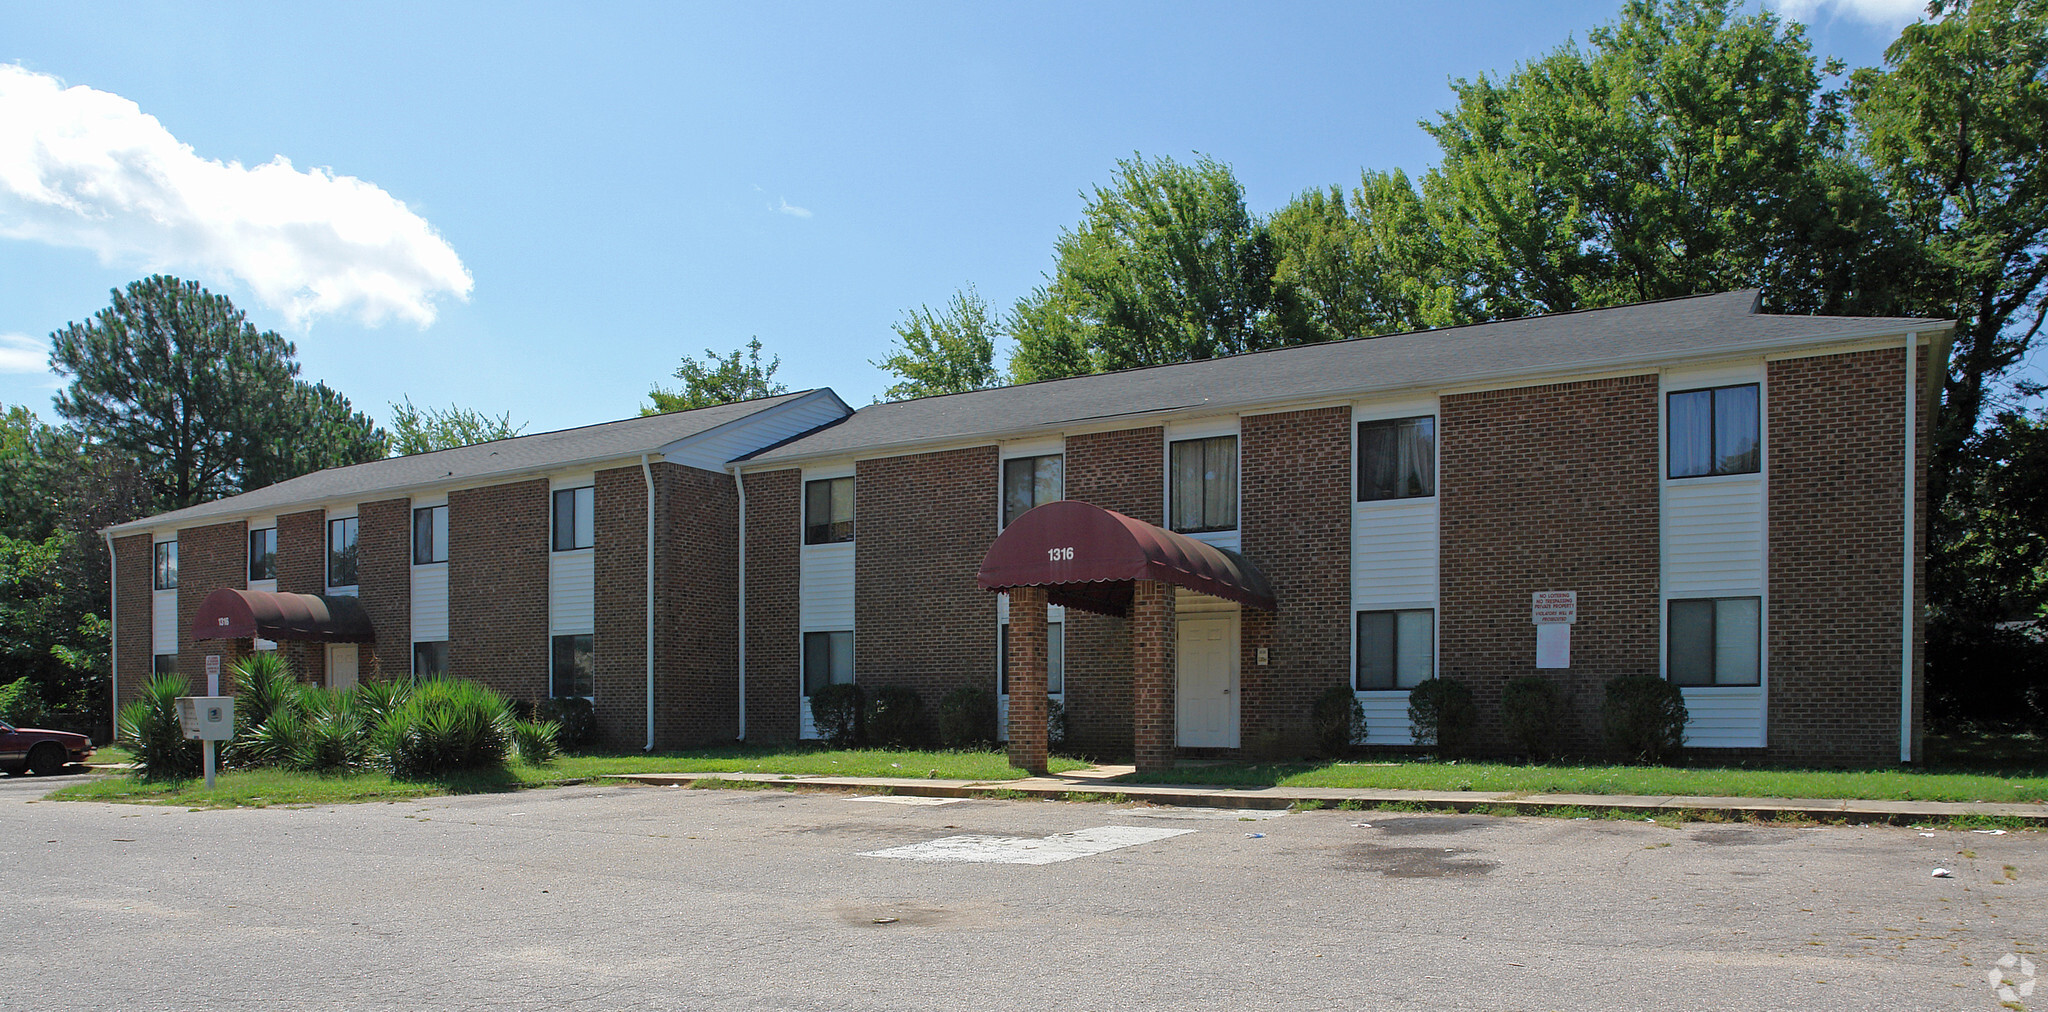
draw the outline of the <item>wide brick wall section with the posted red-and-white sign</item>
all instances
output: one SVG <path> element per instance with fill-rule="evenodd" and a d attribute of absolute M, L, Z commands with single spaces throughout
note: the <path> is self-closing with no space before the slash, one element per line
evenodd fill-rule
<path fill-rule="evenodd" d="M 1440 418 L 1438 670 L 1473 688 L 1483 750 L 1507 748 L 1524 674 L 1569 694 L 1569 748 L 1599 748 L 1606 682 L 1659 672 L 1657 377 L 1448 395 Z M 1536 668 L 1536 590 L 1579 592 L 1569 670 Z"/>

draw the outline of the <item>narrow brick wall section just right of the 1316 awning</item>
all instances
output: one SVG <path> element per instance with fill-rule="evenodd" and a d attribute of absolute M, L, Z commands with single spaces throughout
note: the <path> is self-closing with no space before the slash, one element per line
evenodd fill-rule
<path fill-rule="evenodd" d="M 1315 697 L 1350 680 L 1350 408 L 1241 422 L 1243 553 L 1280 602 L 1243 608 L 1239 727 L 1251 748 L 1307 748 Z M 1257 647 L 1270 647 L 1266 668 Z"/>

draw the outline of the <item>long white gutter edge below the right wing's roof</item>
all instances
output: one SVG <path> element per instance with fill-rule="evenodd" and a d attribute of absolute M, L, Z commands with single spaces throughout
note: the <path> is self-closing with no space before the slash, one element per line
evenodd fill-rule
<path fill-rule="evenodd" d="M 1931 334 L 1937 334 L 1937 332 L 1954 330 L 1954 326 L 1956 326 L 1954 322 L 1944 322 L 1939 328 L 1927 328 L 1927 330 L 1917 330 L 1917 332 L 1909 332 L 1909 334 L 1913 334 L 1913 340 L 1919 340 L 1921 336 L 1931 336 Z M 1096 418 L 1053 418 L 1053 420 L 1030 424 L 1030 426 L 997 428 L 997 430 L 987 430 L 987 432 L 958 432 L 958 434 L 948 434 L 948 436 L 922 436 L 922 438 L 907 438 L 907 440 L 897 440 L 897 442 L 872 442 L 872 445 L 860 445 L 860 447 L 840 447 L 840 449 L 834 449 L 834 451 L 819 451 L 819 453 L 805 453 L 805 455 L 791 455 L 791 457 L 752 457 L 748 461 L 739 461 L 739 467 L 754 467 L 756 471 L 784 471 L 784 469 L 799 467 L 799 465 L 809 463 L 809 461 L 827 461 L 827 459 L 844 459 L 844 457 L 893 457 L 893 455 L 899 455 L 899 453 L 915 453 L 922 447 L 938 447 L 938 445 L 954 445 L 954 442 L 971 442 L 971 440 L 991 442 L 991 440 L 1006 440 L 1006 438 L 1022 438 L 1022 436 L 1044 434 L 1047 430 L 1094 426 L 1098 422 L 1108 422 L 1108 420 L 1139 420 L 1139 418 L 1145 418 L 1147 422 L 1151 422 L 1151 418 L 1171 420 L 1171 418 L 1180 418 L 1180 416 L 1190 416 L 1190 418 L 1202 416 L 1202 418 L 1206 418 L 1206 416 L 1214 416 L 1214 414 L 1260 414 L 1260 412 L 1268 412 L 1268 410 L 1298 408 L 1303 404 L 1325 404 L 1325 402 L 1327 404 L 1346 404 L 1346 402 L 1358 399 L 1360 395 L 1395 393 L 1395 391 L 1421 391 L 1421 389 L 1464 393 L 1464 391 L 1479 391 L 1479 389 L 1499 389 L 1499 383 L 1503 383 L 1503 381 L 1524 381 L 1524 383 L 1532 383 L 1532 385 L 1534 383 L 1554 383 L 1561 377 L 1575 377 L 1575 375 L 1581 375 L 1581 373 L 1612 373 L 1616 369 L 1657 369 L 1657 367 L 1671 365 L 1671 363 L 1698 363 L 1698 361 L 1706 361 L 1706 359 L 1749 359 L 1749 356 L 1755 356 L 1755 354 L 1772 354 L 1772 352 L 1782 352 L 1782 350 L 1790 350 L 1790 348 L 1812 348 L 1815 354 L 1827 354 L 1827 348 L 1835 346 L 1835 344 L 1855 344 L 1855 342 L 1866 342 L 1866 340 L 1876 340 L 1876 338 L 1894 338 L 1898 334 L 1901 334 L 1901 330 L 1896 326 L 1890 326 L 1890 328 L 1878 328 L 1878 330 L 1858 330 L 1858 332 L 1847 332 L 1847 334 L 1829 334 L 1825 340 L 1817 340 L 1815 336 L 1808 334 L 1808 336 L 1802 336 L 1802 338 L 1784 338 L 1784 340 L 1749 344 L 1749 346 L 1741 346 L 1741 348 L 1716 348 L 1716 350 L 1706 350 L 1706 352 L 1702 352 L 1702 350 L 1675 350 L 1675 352 L 1669 352 L 1669 354 L 1655 354 L 1655 356 L 1587 359 L 1583 363 L 1571 363 L 1569 367 L 1503 369 L 1503 371 L 1497 371 L 1497 373 L 1477 373 L 1477 375 L 1470 375 L 1470 377 L 1458 377 L 1456 383 L 1395 383 L 1395 385 L 1382 385 L 1382 387 L 1360 385 L 1360 387 L 1350 387 L 1350 389 L 1343 389 L 1343 391 L 1331 391 L 1331 393 L 1325 393 L 1325 395 L 1309 395 L 1309 397 L 1305 397 L 1305 395 L 1290 395 L 1290 397 L 1266 397 L 1266 399 L 1257 399 L 1257 402 L 1206 402 L 1206 404 L 1200 404 L 1200 406 L 1180 406 L 1180 408 L 1143 408 L 1143 410 L 1137 410 L 1137 412 L 1130 412 L 1130 414 L 1118 414 L 1118 416 L 1106 416 L 1106 418 L 1104 416 L 1096 416 Z M 1276 348 L 1276 350 L 1282 350 L 1282 348 Z M 1223 361 L 1223 359 L 1208 359 L 1208 361 Z M 1176 363 L 1176 365 L 1190 365 L 1190 363 Z M 1087 379 L 1087 377 L 1073 377 L 1073 379 Z"/>

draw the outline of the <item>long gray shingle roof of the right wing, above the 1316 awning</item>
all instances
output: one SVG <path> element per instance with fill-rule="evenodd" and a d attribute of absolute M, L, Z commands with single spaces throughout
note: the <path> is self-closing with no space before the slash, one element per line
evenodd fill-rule
<path fill-rule="evenodd" d="M 1913 318 L 1765 315 L 1757 313 L 1753 289 L 1729 291 L 874 404 L 831 428 L 756 453 L 754 461 L 799 461 L 1112 418 L 1145 424 L 1141 418 L 1151 412 L 1231 410 L 1948 326 L 1944 320 Z"/>

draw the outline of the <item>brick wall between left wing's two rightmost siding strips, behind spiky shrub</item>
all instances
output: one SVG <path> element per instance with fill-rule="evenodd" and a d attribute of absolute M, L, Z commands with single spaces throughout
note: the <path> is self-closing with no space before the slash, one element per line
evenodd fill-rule
<path fill-rule="evenodd" d="M 449 494 L 449 668 L 512 699 L 547 697 L 547 518 L 545 477 Z"/>

